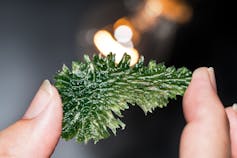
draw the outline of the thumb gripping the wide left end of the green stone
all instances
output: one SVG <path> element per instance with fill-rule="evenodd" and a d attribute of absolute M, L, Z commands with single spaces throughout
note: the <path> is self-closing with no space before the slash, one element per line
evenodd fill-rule
<path fill-rule="evenodd" d="M 55 87 L 45 80 L 26 113 L 0 132 L 0 157 L 49 157 L 61 135 L 62 103 Z"/>

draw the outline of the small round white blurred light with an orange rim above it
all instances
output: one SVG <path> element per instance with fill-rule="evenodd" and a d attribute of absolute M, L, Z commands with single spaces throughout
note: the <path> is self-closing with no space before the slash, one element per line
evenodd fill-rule
<path fill-rule="evenodd" d="M 120 25 L 114 31 L 114 37 L 118 42 L 127 43 L 132 40 L 132 29 L 127 25 Z"/>

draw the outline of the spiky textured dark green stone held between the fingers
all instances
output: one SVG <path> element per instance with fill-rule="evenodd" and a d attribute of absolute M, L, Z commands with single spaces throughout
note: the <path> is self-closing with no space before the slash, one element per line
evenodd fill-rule
<path fill-rule="evenodd" d="M 85 62 L 72 62 L 72 70 L 63 66 L 55 76 L 55 86 L 63 102 L 62 138 L 76 138 L 88 142 L 116 134 L 125 124 L 119 119 L 128 105 L 138 105 L 144 112 L 164 107 L 169 99 L 183 95 L 191 72 L 186 68 L 166 68 L 163 63 L 144 58 L 130 67 L 130 56 L 125 54 L 119 64 L 115 55 L 93 60 L 85 55 Z M 128 104 L 129 103 L 129 104 Z"/>

